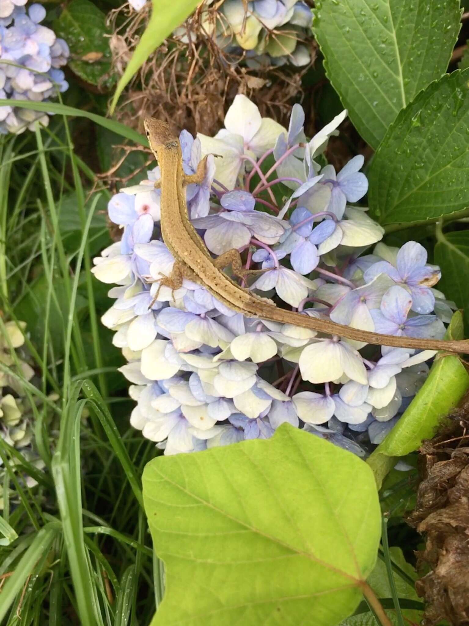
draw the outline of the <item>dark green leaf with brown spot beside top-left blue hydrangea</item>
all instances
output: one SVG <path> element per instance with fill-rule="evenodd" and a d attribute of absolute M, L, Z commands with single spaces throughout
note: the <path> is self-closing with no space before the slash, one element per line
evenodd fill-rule
<path fill-rule="evenodd" d="M 110 29 L 106 15 L 90 0 L 72 0 L 66 4 L 54 31 L 70 48 L 69 68 L 91 85 L 109 86 L 111 70 Z"/>

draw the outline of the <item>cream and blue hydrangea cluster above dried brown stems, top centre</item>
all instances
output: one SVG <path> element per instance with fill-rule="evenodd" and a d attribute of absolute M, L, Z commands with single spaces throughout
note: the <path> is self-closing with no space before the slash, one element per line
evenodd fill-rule
<path fill-rule="evenodd" d="M 10 1 L 10 0 L 8 0 Z M 146 0 L 129 0 L 139 11 Z M 224 0 L 216 13 L 213 0 L 205 0 L 201 9 L 201 29 L 227 54 L 245 56 L 251 68 L 310 63 L 311 9 L 303 0 Z M 186 29 L 176 29 L 185 37 Z M 188 40 L 187 40 L 188 41 Z"/>

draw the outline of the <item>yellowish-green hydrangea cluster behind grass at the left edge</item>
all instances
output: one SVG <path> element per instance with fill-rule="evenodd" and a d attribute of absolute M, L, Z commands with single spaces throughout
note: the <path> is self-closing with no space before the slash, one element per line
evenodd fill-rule
<path fill-rule="evenodd" d="M 34 369 L 28 362 L 28 355 L 23 349 L 24 346 L 24 322 L 6 322 L 4 324 L 6 332 L 0 335 L 0 363 L 7 366 L 13 374 L 19 374 L 22 379 L 31 381 L 34 376 Z M 51 399 L 56 399 L 52 396 Z M 42 410 L 41 406 L 37 407 Z M 34 451 L 34 413 L 26 399 L 24 386 L 19 382 L 18 377 L 12 376 L 9 372 L 0 370 L 0 437 L 16 449 L 21 449 L 21 454 L 29 463 L 33 463 L 38 468 L 44 467 L 43 460 Z M 1 468 L 0 459 L 0 510 L 3 510 L 3 486 L 5 484 L 5 470 Z M 29 487 L 36 485 L 36 481 L 31 477 L 26 477 Z M 10 499 L 16 498 L 16 492 L 10 490 Z"/>

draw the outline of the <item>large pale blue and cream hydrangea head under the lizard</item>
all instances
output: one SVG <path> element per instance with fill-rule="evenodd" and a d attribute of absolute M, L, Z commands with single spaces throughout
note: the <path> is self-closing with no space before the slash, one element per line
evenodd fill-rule
<path fill-rule="evenodd" d="M 214 256 L 235 248 L 246 268 L 263 269 L 249 288 L 281 307 L 367 331 L 441 338 L 451 307 L 433 287 L 440 270 L 416 242 L 381 243 L 383 228 L 351 205 L 368 190 L 363 156 L 340 172 L 325 162 L 345 116 L 308 141 L 300 105 L 286 130 L 236 96 L 214 138 L 181 133 L 186 173 L 209 155 L 204 182 L 187 188 L 189 217 Z M 245 317 L 190 280 L 158 290 L 174 259 L 161 239 L 157 180 L 158 167 L 111 198 L 109 218 L 123 236 L 93 269 L 117 285 L 103 324 L 128 360 L 121 372 L 137 403 L 131 424 L 166 454 L 269 438 L 285 421 L 369 453 L 435 353 Z"/>

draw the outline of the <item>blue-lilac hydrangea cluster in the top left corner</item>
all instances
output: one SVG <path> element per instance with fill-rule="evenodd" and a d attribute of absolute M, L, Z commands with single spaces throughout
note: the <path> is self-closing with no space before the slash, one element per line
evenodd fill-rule
<path fill-rule="evenodd" d="M 48 101 L 68 89 L 63 71 L 69 48 L 63 39 L 41 22 L 46 9 L 26 0 L 0 0 L 0 98 L 11 100 L 0 106 L 0 133 L 21 133 L 46 113 L 14 106 L 14 100 Z"/>

